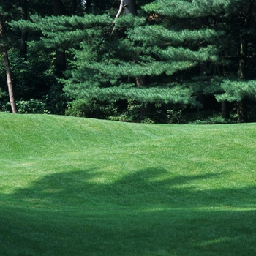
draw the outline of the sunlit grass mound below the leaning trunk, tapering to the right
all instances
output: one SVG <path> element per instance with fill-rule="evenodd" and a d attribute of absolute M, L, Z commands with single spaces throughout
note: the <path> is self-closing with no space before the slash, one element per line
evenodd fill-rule
<path fill-rule="evenodd" d="M 122 146 L 169 136 L 168 127 L 91 118 L 0 113 L 1 151 L 42 154 Z"/>

